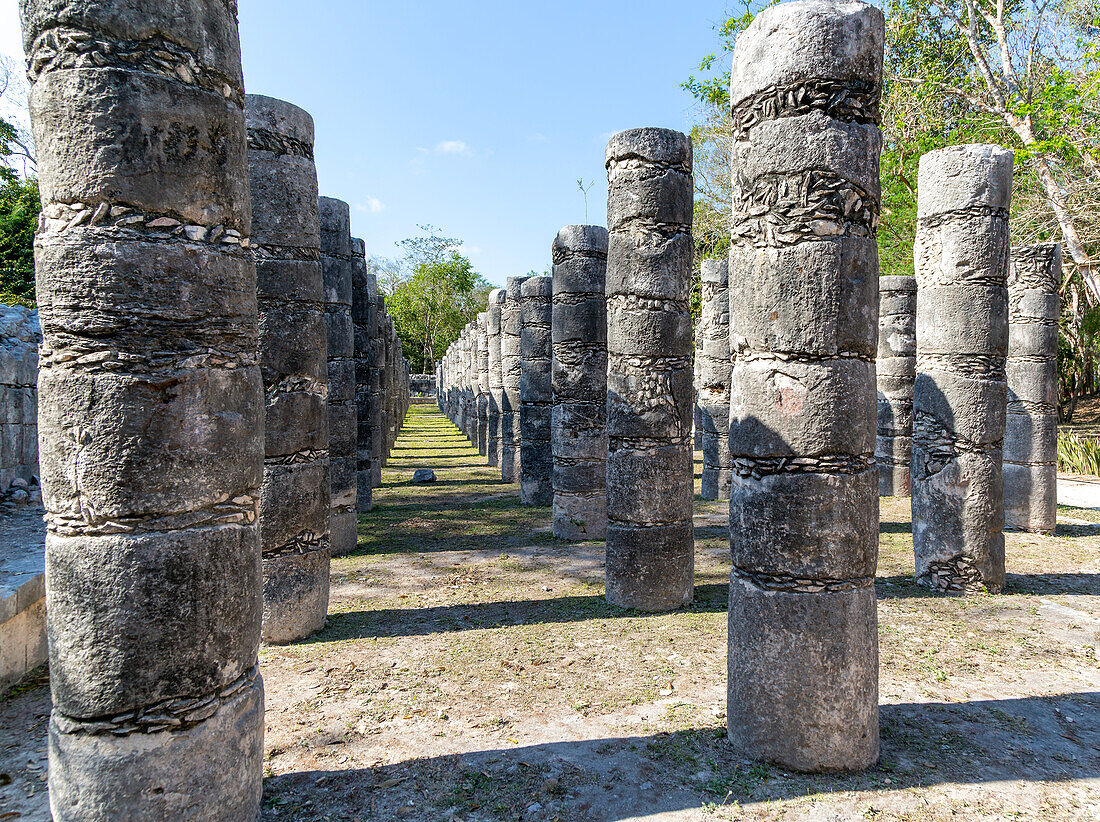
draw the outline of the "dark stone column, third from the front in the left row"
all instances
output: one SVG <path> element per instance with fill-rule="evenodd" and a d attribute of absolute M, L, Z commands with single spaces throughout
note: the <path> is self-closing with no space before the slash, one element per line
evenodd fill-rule
<path fill-rule="evenodd" d="M 351 316 L 355 255 L 351 240 L 351 208 L 348 204 L 321 197 L 319 208 L 324 328 L 329 341 L 329 546 L 333 557 L 342 557 L 355 550 L 358 538 L 355 330 Z M 365 262 L 364 260 L 364 267 Z"/>

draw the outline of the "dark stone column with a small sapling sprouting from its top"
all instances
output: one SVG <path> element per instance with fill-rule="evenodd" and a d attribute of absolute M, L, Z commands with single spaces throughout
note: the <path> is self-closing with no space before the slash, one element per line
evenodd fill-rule
<path fill-rule="evenodd" d="M 607 229 L 566 226 L 553 259 L 553 535 L 607 534 Z"/>

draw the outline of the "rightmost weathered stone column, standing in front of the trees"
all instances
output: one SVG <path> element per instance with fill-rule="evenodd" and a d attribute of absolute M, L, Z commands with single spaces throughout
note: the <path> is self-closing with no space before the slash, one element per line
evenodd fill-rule
<path fill-rule="evenodd" d="M 1009 257 L 1004 524 L 1053 534 L 1058 518 L 1058 289 L 1062 245 Z"/>

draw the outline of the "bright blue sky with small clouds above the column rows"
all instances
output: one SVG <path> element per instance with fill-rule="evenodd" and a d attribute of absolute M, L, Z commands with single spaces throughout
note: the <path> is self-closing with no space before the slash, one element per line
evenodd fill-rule
<path fill-rule="evenodd" d="M 0 53 L 22 58 L 16 0 Z M 542 271 L 558 229 L 584 221 L 576 179 L 639 125 L 690 128 L 680 88 L 717 46 L 727 0 L 557 3 L 240 0 L 249 91 L 307 109 L 321 193 L 352 206 L 369 253 L 431 223 L 503 285 Z"/>

